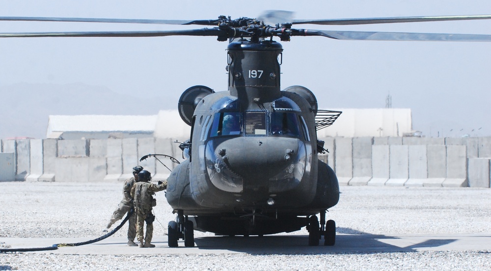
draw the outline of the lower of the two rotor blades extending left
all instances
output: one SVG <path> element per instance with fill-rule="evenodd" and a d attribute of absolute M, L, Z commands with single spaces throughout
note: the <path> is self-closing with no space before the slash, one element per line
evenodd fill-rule
<path fill-rule="evenodd" d="M 94 32 L 32 32 L 0 33 L 0 38 L 38 37 L 164 37 L 164 36 L 220 36 L 226 31 L 218 28 L 203 28 L 172 31 L 94 31 Z M 228 36 L 227 36 L 228 37 Z"/>

